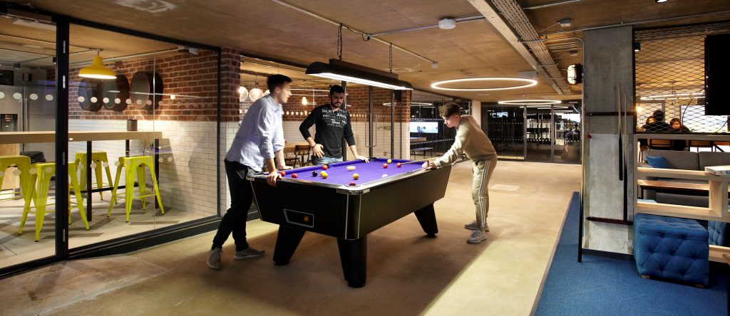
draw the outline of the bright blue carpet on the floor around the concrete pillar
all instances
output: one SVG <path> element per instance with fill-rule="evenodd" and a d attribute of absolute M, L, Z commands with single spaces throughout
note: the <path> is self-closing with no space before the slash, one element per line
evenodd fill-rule
<path fill-rule="evenodd" d="M 576 192 L 535 315 L 727 315 L 726 265 L 710 263 L 710 284 L 695 288 L 642 279 L 621 258 L 577 262 L 579 208 Z"/>

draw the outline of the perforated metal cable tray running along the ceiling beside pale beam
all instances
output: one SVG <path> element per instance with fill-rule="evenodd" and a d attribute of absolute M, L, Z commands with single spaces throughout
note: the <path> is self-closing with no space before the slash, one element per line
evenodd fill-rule
<path fill-rule="evenodd" d="M 563 94 L 572 94 L 563 74 L 558 69 L 558 65 L 553 60 L 553 57 L 550 56 L 548 47 L 540 39 L 539 34 L 535 31 L 527 15 L 520 8 L 520 4 L 516 0 L 492 0 L 491 3 L 502 13 L 504 20 L 507 20 L 507 23 L 510 24 L 512 29 L 518 33 L 518 36 L 520 36 L 524 44 L 529 47 L 532 54 L 537 58 L 539 66 L 545 69 L 545 72 L 548 74 L 548 79 L 555 82 Z"/>

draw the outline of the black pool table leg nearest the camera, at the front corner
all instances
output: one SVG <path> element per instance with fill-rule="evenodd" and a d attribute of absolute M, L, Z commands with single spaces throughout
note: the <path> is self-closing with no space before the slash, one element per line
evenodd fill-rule
<path fill-rule="evenodd" d="M 367 277 L 367 235 L 356 240 L 337 238 L 342 272 L 350 288 L 362 288 Z"/>

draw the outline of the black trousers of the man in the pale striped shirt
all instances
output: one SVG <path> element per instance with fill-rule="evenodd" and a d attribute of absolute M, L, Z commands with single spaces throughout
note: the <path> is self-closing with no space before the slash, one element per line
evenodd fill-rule
<path fill-rule="evenodd" d="M 253 201 L 253 189 L 246 180 L 246 173 L 249 172 L 249 168 L 238 162 L 229 162 L 228 160 L 223 162 L 226 164 L 228 189 L 231 193 L 231 208 L 228 208 L 226 215 L 220 220 L 218 232 L 213 237 L 211 249 L 223 248 L 223 243 L 228 239 L 228 235 L 233 232 L 236 251 L 240 251 L 248 248 L 246 218 Z"/>

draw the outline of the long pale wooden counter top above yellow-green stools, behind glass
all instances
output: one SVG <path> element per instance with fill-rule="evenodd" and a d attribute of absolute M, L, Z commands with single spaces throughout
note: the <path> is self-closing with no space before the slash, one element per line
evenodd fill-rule
<path fill-rule="evenodd" d="M 120 141 L 138 139 L 154 141 L 162 132 L 148 130 L 69 130 L 69 141 Z M 0 132 L 0 143 L 53 143 L 55 131 Z"/>

